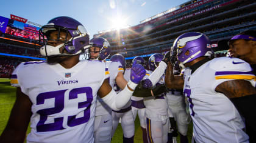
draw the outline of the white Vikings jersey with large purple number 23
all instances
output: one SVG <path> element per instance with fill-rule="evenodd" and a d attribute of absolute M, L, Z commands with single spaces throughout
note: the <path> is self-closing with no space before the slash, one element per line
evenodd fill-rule
<path fill-rule="evenodd" d="M 96 96 L 106 78 L 101 61 L 80 61 L 72 68 L 21 63 L 11 84 L 32 102 L 27 142 L 93 142 Z"/>

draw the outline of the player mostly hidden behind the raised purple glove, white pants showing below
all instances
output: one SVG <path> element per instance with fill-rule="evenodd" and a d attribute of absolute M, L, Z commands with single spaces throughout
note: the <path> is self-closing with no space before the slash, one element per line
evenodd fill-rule
<path fill-rule="evenodd" d="M 145 60 L 141 56 L 136 56 L 133 58 L 132 62 L 137 61 L 137 64 L 141 64 L 144 67 Z M 148 71 L 146 70 L 146 75 L 149 76 Z M 146 76 L 145 76 L 146 77 Z M 147 131 L 146 131 L 146 116 L 145 116 L 145 105 L 143 102 L 142 97 L 137 97 L 137 96 L 132 96 L 132 114 L 134 120 L 136 119 L 137 113 L 138 117 L 140 119 L 140 127 L 142 130 L 142 135 L 143 135 L 143 142 L 147 143 L 148 142 L 148 137 L 147 137 Z"/>

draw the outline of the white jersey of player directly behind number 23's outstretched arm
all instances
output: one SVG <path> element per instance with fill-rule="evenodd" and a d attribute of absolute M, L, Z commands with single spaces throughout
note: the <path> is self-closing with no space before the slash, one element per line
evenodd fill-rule
<path fill-rule="evenodd" d="M 112 61 L 107 61 L 105 62 L 108 71 L 109 71 L 109 84 L 111 87 L 114 87 L 115 85 L 115 79 L 116 76 L 118 75 L 118 72 L 124 72 L 124 68 L 122 67 L 120 62 L 112 62 Z M 104 101 L 98 96 L 97 101 L 96 101 L 96 113 L 95 116 L 100 116 L 100 115 L 106 115 L 108 113 L 111 114 L 112 108 L 108 107 L 107 104 L 105 104 Z"/>

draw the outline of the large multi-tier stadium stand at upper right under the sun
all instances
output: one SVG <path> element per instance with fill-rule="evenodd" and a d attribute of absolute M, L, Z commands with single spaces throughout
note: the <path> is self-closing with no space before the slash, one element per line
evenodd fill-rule
<path fill-rule="evenodd" d="M 129 28 L 99 32 L 112 45 L 112 55 L 131 56 L 164 53 L 174 39 L 186 32 L 202 32 L 207 35 L 213 50 L 223 51 L 227 39 L 248 29 L 256 29 L 256 1 L 253 0 L 201 0 L 188 1 L 163 13 L 152 16 Z"/>

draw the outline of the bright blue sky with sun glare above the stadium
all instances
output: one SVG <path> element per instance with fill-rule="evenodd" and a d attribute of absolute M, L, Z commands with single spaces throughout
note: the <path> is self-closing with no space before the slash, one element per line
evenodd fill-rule
<path fill-rule="evenodd" d="M 1 0 L 0 16 L 10 14 L 45 25 L 57 16 L 69 16 L 87 28 L 90 38 L 121 25 L 134 26 L 188 0 Z"/>

